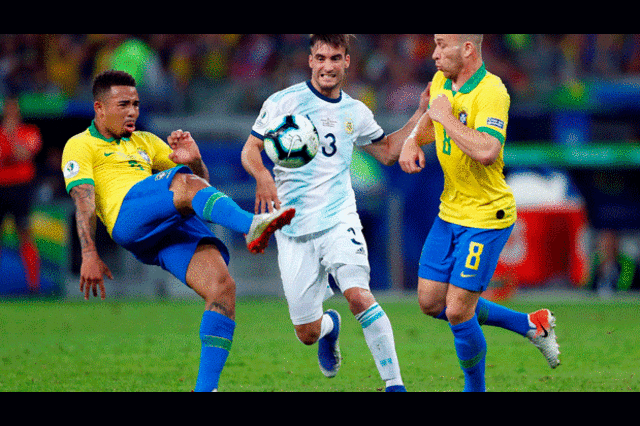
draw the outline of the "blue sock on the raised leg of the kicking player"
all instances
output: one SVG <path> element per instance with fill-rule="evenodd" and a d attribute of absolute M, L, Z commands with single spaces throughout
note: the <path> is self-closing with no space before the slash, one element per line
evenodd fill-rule
<path fill-rule="evenodd" d="M 253 214 L 242 210 L 235 201 L 213 186 L 198 191 L 191 201 L 191 207 L 200 219 L 243 234 L 249 232 L 253 221 Z"/>

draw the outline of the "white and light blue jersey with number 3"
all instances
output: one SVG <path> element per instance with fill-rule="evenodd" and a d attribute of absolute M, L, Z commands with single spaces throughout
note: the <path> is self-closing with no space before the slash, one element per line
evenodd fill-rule
<path fill-rule="evenodd" d="M 343 91 L 337 99 L 323 96 L 307 81 L 271 95 L 251 134 L 262 140 L 270 120 L 283 114 L 308 116 L 318 129 L 320 147 L 302 167 L 273 169 L 280 202 L 296 209 L 282 232 L 292 237 L 312 234 L 353 217 L 349 214 L 356 213 L 350 174 L 354 145 L 368 145 L 385 135 L 371 110 Z"/>

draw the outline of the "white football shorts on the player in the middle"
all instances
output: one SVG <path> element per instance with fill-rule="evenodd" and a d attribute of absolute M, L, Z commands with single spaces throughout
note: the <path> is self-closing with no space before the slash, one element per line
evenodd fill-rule
<path fill-rule="evenodd" d="M 367 243 L 362 225 L 350 218 L 348 223 L 302 237 L 288 237 L 276 232 L 278 266 L 284 294 L 289 305 L 289 316 L 294 325 L 314 322 L 322 317 L 322 302 L 333 295 L 329 274 L 342 265 L 360 265 L 369 273 Z M 336 280 L 337 282 L 337 280 Z M 339 283 L 344 293 L 357 283 Z M 369 281 L 363 287 L 369 290 Z"/>

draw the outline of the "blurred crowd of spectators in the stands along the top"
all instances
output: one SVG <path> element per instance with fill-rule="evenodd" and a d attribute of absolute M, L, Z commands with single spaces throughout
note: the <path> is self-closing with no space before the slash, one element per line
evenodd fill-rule
<path fill-rule="evenodd" d="M 358 34 L 347 92 L 374 112 L 413 110 L 435 72 L 431 34 Z M 637 34 L 485 34 L 487 68 L 512 102 L 559 86 L 640 74 Z M 125 69 L 152 111 L 256 113 L 275 90 L 309 78 L 308 34 L 3 34 L 0 97 L 91 100 L 93 77 Z"/>

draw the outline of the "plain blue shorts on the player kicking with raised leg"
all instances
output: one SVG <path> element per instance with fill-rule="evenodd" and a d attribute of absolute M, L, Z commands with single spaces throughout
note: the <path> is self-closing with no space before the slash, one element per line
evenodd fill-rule
<path fill-rule="evenodd" d="M 113 228 L 113 240 L 147 265 L 157 265 L 187 284 L 187 268 L 200 242 L 214 244 L 229 264 L 229 250 L 195 214 L 182 216 L 169 190 L 177 166 L 135 184 L 124 197 Z"/>

